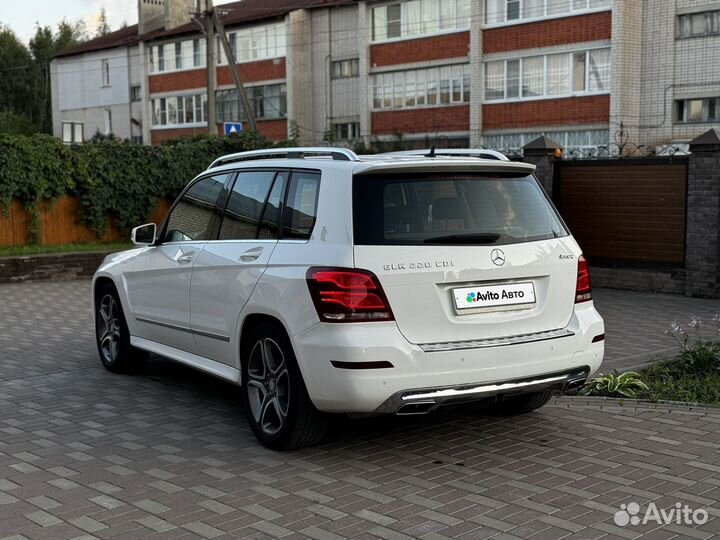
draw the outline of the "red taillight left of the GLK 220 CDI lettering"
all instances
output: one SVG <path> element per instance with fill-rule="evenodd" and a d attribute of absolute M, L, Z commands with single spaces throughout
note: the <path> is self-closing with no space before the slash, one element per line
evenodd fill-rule
<path fill-rule="evenodd" d="M 367 270 L 310 268 L 310 296 L 323 322 L 394 320 L 375 274 Z"/>

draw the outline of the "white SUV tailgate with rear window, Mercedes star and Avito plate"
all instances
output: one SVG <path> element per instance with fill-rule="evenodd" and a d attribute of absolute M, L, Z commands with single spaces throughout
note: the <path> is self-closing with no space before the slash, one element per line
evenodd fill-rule
<path fill-rule="evenodd" d="M 572 315 L 579 251 L 533 176 L 356 176 L 355 265 L 412 343 L 531 334 Z"/>

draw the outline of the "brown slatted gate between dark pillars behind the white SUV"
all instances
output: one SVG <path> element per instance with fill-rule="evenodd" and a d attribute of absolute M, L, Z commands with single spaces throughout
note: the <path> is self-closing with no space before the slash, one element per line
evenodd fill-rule
<path fill-rule="evenodd" d="M 556 203 L 592 262 L 683 264 L 686 161 L 567 161 L 559 166 Z"/>

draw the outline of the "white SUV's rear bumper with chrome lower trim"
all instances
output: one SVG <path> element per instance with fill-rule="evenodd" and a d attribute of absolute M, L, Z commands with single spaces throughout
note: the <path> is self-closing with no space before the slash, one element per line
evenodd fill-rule
<path fill-rule="evenodd" d="M 600 367 L 605 350 L 604 341 L 593 343 L 605 329 L 592 302 L 577 305 L 563 330 L 542 340 L 495 346 L 477 342 L 472 348 L 433 351 L 408 342 L 394 322 L 317 324 L 291 339 L 319 410 L 397 413 L 408 403 L 427 401 L 434 408 L 494 395 L 560 390 L 589 377 Z M 389 362 L 393 367 L 340 369 L 332 361 Z"/>

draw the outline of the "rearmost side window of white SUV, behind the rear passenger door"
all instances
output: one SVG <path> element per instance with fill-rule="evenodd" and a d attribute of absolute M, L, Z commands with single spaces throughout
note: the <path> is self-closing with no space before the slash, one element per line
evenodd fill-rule
<path fill-rule="evenodd" d="M 319 188 L 319 173 L 293 173 L 283 217 L 283 238 L 310 238 L 317 216 Z"/>

